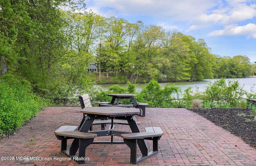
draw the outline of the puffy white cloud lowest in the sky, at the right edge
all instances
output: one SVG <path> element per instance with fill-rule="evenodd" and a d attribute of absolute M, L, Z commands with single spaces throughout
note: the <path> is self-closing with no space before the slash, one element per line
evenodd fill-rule
<path fill-rule="evenodd" d="M 248 38 L 256 38 L 256 24 L 248 23 L 244 26 L 228 25 L 222 30 L 216 30 L 209 34 L 209 36 L 246 36 Z"/>

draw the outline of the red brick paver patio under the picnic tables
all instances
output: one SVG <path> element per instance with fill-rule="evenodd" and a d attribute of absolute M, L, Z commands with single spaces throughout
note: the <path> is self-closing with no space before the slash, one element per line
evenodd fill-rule
<path fill-rule="evenodd" d="M 10 138 L 0 140 L 0 157 L 11 160 L 0 160 L 0 165 L 78 166 L 74 161 L 64 160 L 66 156 L 60 152 L 60 141 L 54 131 L 61 125 L 79 125 L 82 119 L 79 111 L 80 107 L 47 107 L 41 111 Z M 150 126 L 164 131 L 159 141 L 160 151 L 138 165 L 256 166 L 256 149 L 187 109 L 147 108 L 146 117 L 136 116 L 136 119 L 141 131 Z M 116 125 L 115 129 L 128 130 L 128 127 Z M 122 141 L 119 137 L 115 139 Z M 151 146 L 151 142 L 146 143 Z M 126 144 L 91 144 L 86 157 L 90 160 L 81 166 L 131 165 L 130 148 Z"/>

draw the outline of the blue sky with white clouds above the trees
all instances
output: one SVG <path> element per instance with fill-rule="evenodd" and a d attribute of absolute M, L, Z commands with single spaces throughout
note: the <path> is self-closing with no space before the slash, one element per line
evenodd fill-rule
<path fill-rule="evenodd" d="M 256 0 L 85 0 L 87 10 L 204 39 L 221 57 L 256 61 Z"/>

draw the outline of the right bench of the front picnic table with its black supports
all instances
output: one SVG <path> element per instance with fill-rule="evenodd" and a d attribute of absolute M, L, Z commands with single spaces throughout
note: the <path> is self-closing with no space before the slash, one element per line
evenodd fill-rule
<path fill-rule="evenodd" d="M 158 152 L 158 140 L 163 135 L 162 129 L 160 127 L 147 127 L 146 130 L 150 132 L 121 134 L 121 137 L 124 139 L 124 143 L 130 147 L 131 164 L 137 164 Z M 155 131 L 159 133 L 155 133 Z M 140 149 L 142 156 L 137 158 L 138 141 L 143 141 L 144 139 L 153 141 L 153 150 L 148 152 L 148 148 Z"/>

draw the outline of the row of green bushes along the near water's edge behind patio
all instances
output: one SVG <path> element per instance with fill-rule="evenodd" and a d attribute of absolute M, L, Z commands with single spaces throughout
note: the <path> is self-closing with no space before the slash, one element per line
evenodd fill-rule
<path fill-rule="evenodd" d="M 182 92 L 180 87 L 167 83 L 164 88 L 156 80 L 151 80 L 140 92 L 135 92 L 136 84 L 128 82 L 125 88 L 114 85 L 107 91 L 100 90 L 96 96 L 100 101 L 110 101 L 107 93 L 137 94 L 137 102 L 148 103 L 148 107 L 247 107 L 244 98 L 254 96 L 240 86 L 238 80 L 220 79 L 206 86 L 204 92 L 193 92 L 191 87 Z M 254 96 L 256 97 L 256 96 Z M 127 100 L 124 100 L 127 102 Z M 125 103 L 126 104 L 126 103 Z"/>

